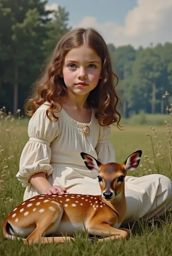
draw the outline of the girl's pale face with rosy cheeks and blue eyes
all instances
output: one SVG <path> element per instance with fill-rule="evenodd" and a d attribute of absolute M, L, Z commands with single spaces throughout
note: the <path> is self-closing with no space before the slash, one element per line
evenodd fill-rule
<path fill-rule="evenodd" d="M 77 95 L 86 95 L 102 78 L 101 71 L 101 58 L 92 48 L 82 45 L 66 54 L 61 77 L 64 77 L 67 90 Z"/>

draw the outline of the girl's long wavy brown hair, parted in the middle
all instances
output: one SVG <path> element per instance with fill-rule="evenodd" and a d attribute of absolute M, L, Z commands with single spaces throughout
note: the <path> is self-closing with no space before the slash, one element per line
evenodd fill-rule
<path fill-rule="evenodd" d="M 35 82 L 31 97 L 25 102 L 25 112 L 27 115 L 32 116 L 39 106 L 48 102 L 47 117 L 49 118 L 50 113 L 58 120 L 55 113 L 61 110 L 62 98 L 67 99 L 64 78 L 60 77 L 64 59 L 71 49 L 82 45 L 94 49 L 102 59 L 102 79 L 91 90 L 87 97 L 87 105 L 96 110 L 95 117 L 100 125 L 109 126 L 112 123 L 117 123 L 119 128 L 121 117 L 117 110 L 117 105 L 120 99 L 115 92 L 118 77 L 112 71 L 110 54 L 103 37 L 93 28 L 77 28 L 61 38 L 50 57 L 43 76 Z M 114 83 L 114 80 L 116 80 L 116 83 Z"/>

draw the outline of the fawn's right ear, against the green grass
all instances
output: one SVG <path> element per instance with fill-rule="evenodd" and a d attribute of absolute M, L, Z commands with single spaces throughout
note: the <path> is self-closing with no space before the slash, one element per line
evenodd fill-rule
<path fill-rule="evenodd" d="M 138 150 L 134 153 L 132 153 L 127 159 L 126 161 L 122 164 L 124 169 L 128 172 L 128 171 L 132 171 L 135 168 L 138 167 L 139 163 L 140 163 L 140 157 L 142 155 L 142 150 Z"/>

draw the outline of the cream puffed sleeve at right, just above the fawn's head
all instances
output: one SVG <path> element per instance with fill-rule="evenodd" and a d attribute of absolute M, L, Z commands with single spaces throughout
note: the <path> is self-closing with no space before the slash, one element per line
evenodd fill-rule
<path fill-rule="evenodd" d="M 115 150 L 110 143 L 111 127 L 100 126 L 99 139 L 95 151 L 98 155 L 98 161 L 106 164 L 115 162 Z"/>

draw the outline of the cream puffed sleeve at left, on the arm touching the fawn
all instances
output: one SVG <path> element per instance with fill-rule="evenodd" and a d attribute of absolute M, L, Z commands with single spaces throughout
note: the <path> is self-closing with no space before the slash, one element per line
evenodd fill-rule
<path fill-rule="evenodd" d="M 44 172 L 46 177 L 52 174 L 50 143 L 58 134 L 58 121 L 50 121 L 46 110 L 38 109 L 30 118 L 29 141 L 22 151 L 19 172 L 16 175 L 23 187 L 31 184 L 29 179 L 33 174 Z"/>

